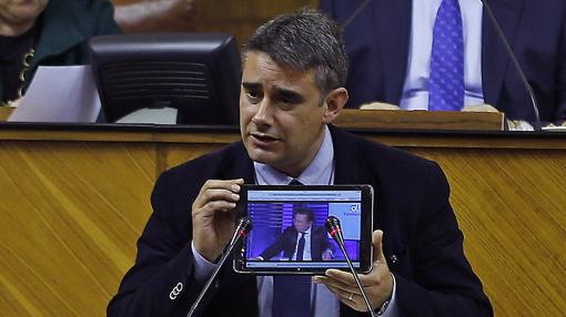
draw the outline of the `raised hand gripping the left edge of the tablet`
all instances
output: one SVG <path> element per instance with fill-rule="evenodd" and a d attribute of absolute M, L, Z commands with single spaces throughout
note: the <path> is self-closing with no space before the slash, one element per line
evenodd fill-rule
<path fill-rule="evenodd" d="M 234 234 L 233 213 L 244 180 L 209 180 L 192 205 L 193 243 L 205 259 L 214 262 Z"/>

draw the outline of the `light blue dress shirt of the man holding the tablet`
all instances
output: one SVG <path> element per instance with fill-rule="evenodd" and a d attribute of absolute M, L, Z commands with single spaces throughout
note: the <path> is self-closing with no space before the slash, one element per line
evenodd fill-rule
<path fill-rule="evenodd" d="M 294 178 L 279 172 L 277 170 L 257 162 L 253 162 L 255 171 L 255 181 L 259 185 L 286 185 Z M 329 127 L 324 129 L 324 139 L 321 149 L 314 156 L 309 166 L 296 177 L 304 185 L 332 185 L 334 184 L 334 145 Z M 191 244 L 195 259 L 195 278 L 204 283 L 214 270 L 215 265 L 208 262 L 195 249 L 194 243 Z M 390 306 L 383 317 L 396 317 L 395 306 L 396 285 L 393 283 L 393 296 Z M 340 301 L 326 286 L 312 284 L 311 300 L 313 300 L 315 317 L 338 317 Z M 257 276 L 257 305 L 259 316 L 272 317 L 273 307 L 273 277 Z"/>

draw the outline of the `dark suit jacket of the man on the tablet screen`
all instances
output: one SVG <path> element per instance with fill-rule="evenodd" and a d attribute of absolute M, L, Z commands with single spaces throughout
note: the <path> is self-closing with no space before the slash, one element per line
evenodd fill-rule
<path fill-rule="evenodd" d="M 283 256 L 291 259 L 295 253 L 296 238 L 299 233 L 294 226 L 290 226 L 283 231 L 277 239 L 270 245 L 262 254 L 261 257 L 270 259 L 283 250 Z M 311 227 L 311 257 L 313 260 L 322 260 L 322 254 L 331 249 L 331 244 L 326 235 L 326 231 L 322 227 Z"/>

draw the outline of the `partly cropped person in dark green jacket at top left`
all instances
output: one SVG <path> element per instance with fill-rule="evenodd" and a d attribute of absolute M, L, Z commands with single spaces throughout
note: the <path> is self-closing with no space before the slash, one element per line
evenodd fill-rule
<path fill-rule="evenodd" d="M 0 0 L 0 101 L 17 106 L 39 65 L 88 62 L 88 40 L 120 32 L 107 0 Z"/>

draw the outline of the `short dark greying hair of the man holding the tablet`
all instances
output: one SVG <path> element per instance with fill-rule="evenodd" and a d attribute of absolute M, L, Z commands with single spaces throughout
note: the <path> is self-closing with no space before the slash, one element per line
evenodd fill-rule
<path fill-rule="evenodd" d="M 286 13 L 261 25 L 244 49 L 266 53 L 277 65 L 314 70 L 323 95 L 344 86 L 347 55 L 342 31 L 330 18 L 312 9 Z"/>

